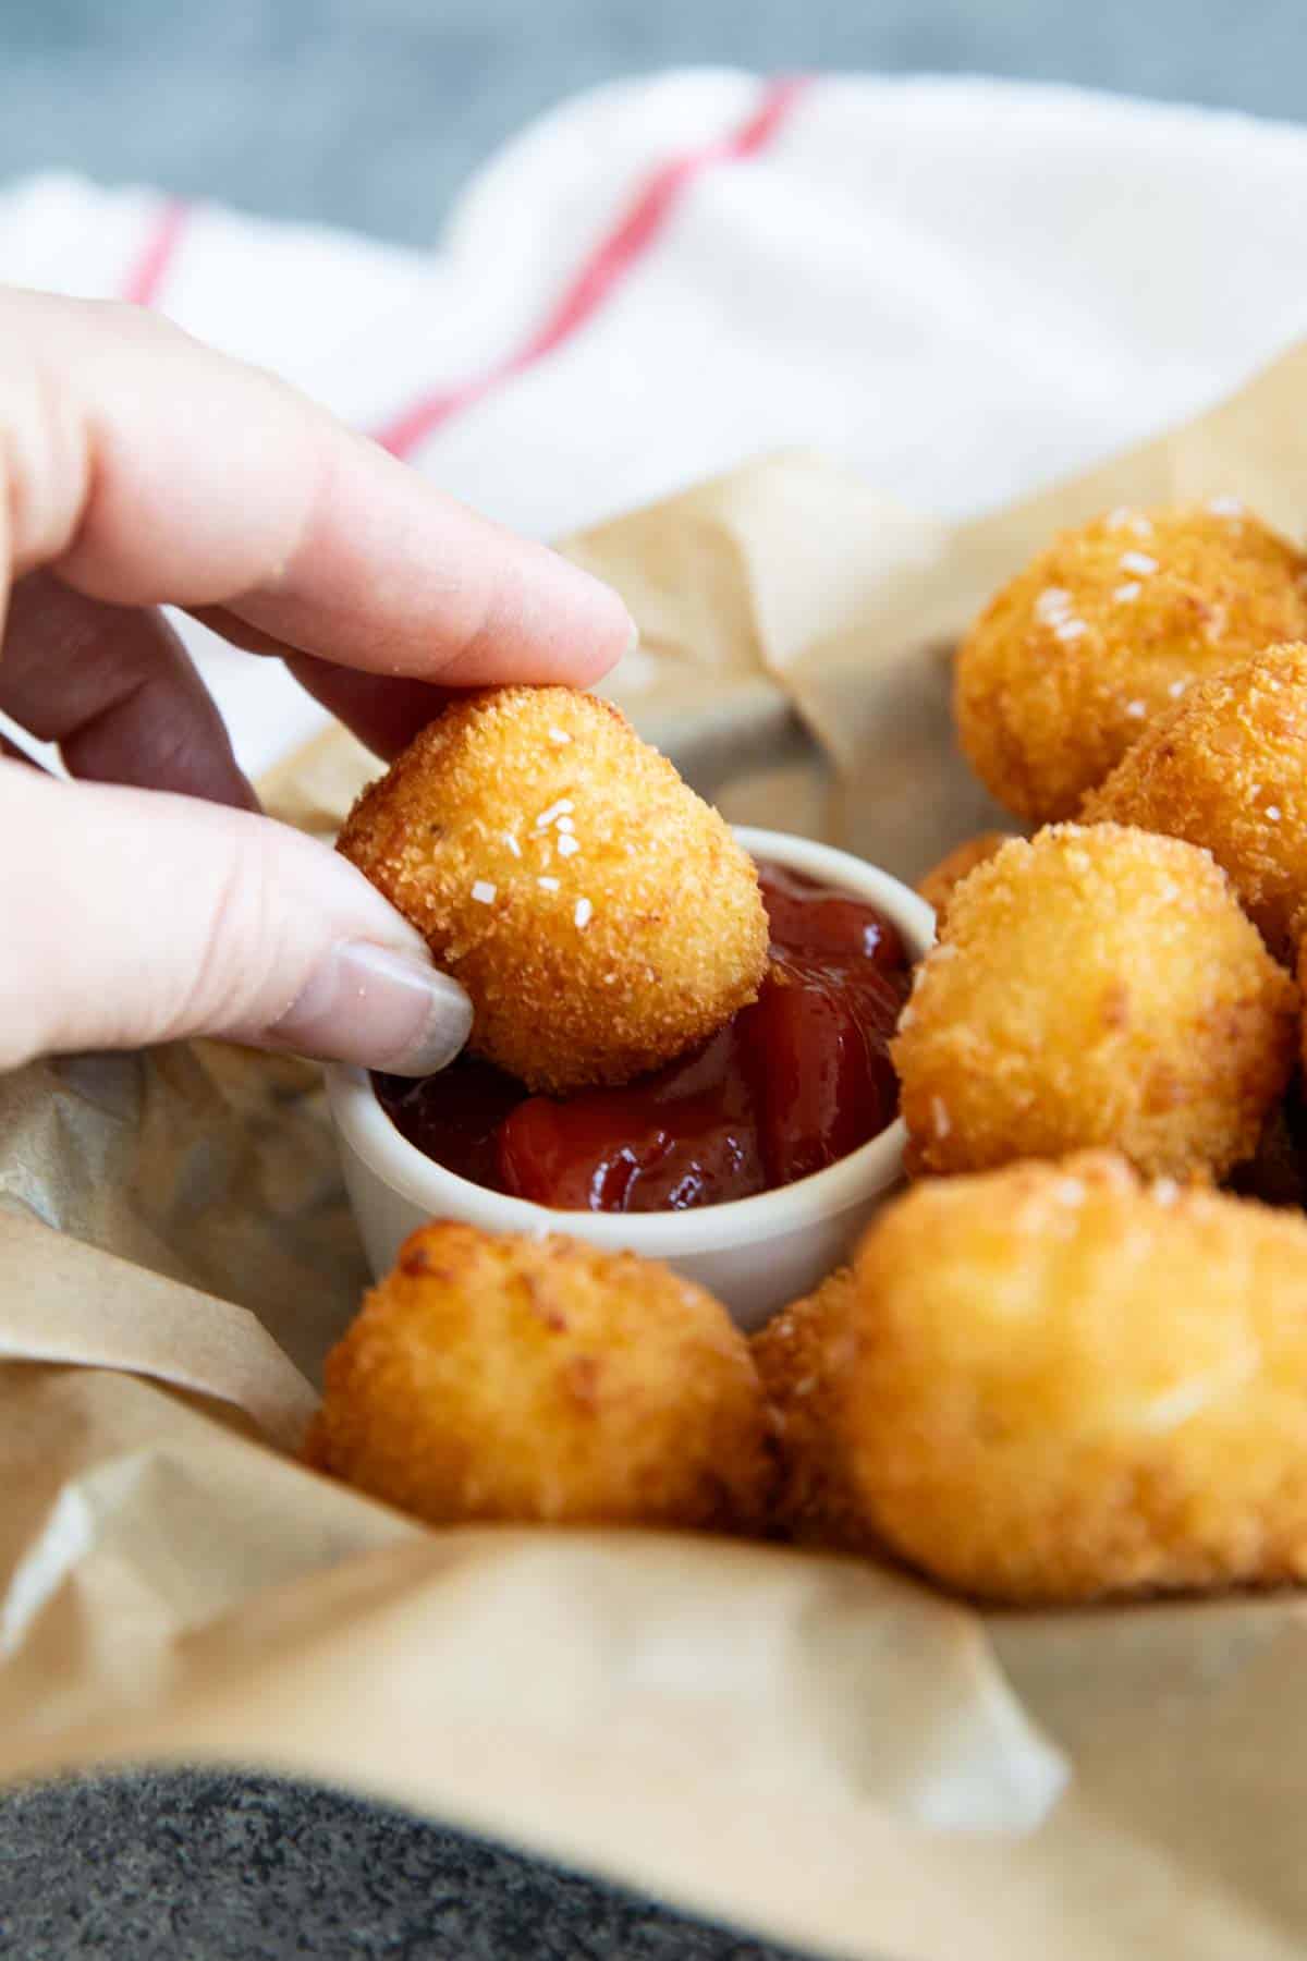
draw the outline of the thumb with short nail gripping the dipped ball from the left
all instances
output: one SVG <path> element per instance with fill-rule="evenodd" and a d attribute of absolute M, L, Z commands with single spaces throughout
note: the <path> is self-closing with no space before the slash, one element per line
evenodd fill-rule
<path fill-rule="evenodd" d="M 0 763 L 0 1069 L 233 1035 L 425 1075 L 472 1010 L 343 857 L 284 824 Z"/>

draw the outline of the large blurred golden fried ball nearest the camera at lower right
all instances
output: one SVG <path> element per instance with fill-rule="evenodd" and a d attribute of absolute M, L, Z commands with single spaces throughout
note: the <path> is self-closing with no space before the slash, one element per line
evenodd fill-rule
<path fill-rule="evenodd" d="M 1307 1579 L 1307 1222 L 1088 1153 L 917 1186 L 856 1259 L 866 1516 L 962 1592 Z"/>

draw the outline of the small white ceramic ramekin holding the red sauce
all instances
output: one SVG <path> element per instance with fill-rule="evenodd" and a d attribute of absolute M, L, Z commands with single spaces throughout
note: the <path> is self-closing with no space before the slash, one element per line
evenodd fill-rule
<path fill-rule="evenodd" d="M 913 959 L 931 945 L 935 916 L 927 902 L 874 865 L 782 831 L 739 828 L 737 837 L 754 859 L 870 900 L 897 926 Z M 345 1184 L 374 1273 L 386 1273 L 408 1233 L 431 1218 L 466 1220 L 486 1232 L 564 1232 L 590 1245 L 666 1261 L 717 1294 L 745 1330 L 760 1328 L 837 1267 L 903 1175 L 899 1118 L 827 1171 L 756 1198 L 702 1212 L 553 1212 L 433 1165 L 394 1128 L 366 1071 L 329 1067 L 327 1094 Z"/>

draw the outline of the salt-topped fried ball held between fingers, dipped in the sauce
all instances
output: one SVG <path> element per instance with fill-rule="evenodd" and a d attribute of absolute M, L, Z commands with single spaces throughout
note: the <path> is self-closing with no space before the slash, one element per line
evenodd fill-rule
<path fill-rule="evenodd" d="M 533 1090 L 627 1082 L 756 998 L 768 926 L 725 820 L 609 702 L 486 688 L 417 735 L 339 849 L 466 986 Z"/>

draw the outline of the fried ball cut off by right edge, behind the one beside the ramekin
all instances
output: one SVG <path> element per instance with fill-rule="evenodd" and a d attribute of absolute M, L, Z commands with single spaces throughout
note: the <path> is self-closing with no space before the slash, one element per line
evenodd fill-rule
<path fill-rule="evenodd" d="M 1307 896 L 1307 645 L 1268 647 L 1187 690 L 1089 794 L 1113 818 L 1205 845 L 1278 959 Z"/>

